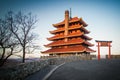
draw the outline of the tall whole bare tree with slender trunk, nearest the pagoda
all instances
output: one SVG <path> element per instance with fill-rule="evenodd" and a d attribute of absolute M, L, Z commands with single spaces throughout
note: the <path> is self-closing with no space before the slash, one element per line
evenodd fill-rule
<path fill-rule="evenodd" d="M 25 62 L 27 44 L 30 43 L 35 37 L 31 31 L 35 28 L 34 25 L 37 21 L 36 17 L 33 17 L 31 13 L 25 15 L 18 12 L 15 16 L 11 13 L 8 20 L 10 31 L 14 34 L 23 49 L 22 62 Z"/>

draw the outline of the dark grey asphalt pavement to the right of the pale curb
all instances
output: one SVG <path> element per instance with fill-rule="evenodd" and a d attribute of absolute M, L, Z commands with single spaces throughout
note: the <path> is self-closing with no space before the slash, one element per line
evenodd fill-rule
<path fill-rule="evenodd" d="M 66 63 L 47 80 L 120 80 L 120 60 Z"/>

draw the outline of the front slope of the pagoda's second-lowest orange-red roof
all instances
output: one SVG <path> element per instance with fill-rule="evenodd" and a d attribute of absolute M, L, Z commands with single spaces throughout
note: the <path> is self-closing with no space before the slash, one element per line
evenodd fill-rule
<path fill-rule="evenodd" d="M 61 45 L 73 45 L 73 44 L 81 44 L 83 43 L 85 40 L 83 39 L 71 39 L 71 40 L 68 40 L 67 42 L 65 42 L 64 40 L 60 40 L 60 41 L 55 41 L 55 42 L 52 42 L 48 45 L 45 45 L 46 47 L 52 47 L 52 46 L 61 46 Z"/>

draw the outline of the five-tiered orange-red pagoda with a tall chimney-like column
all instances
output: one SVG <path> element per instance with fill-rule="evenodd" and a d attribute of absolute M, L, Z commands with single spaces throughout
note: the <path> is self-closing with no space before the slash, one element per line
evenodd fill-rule
<path fill-rule="evenodd" d="M 51 43 L 45 45 L 50 49 L 43 51 L 43 54 L 69 56 L 95 52 L 89 48 L 94 45 L 88 42 L 92 38 L 86 35 L 90 32 L 85 28 L 87 24 L 82 18 L 71 18 L 69 11 L 66 10 L 65 19 L 53 26 L 56 30 L 50 31 L 50 33 L 54 36 L 47 38 Z"/>

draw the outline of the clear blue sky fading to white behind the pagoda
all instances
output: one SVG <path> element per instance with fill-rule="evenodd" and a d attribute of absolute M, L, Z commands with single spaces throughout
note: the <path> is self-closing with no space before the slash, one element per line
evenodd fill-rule
<path fill-rule="evenodd" d="M 120 54 L 120 1 L 119 0 L 0 0 L 0 17 L 7 11 L 22 11 L 27 14 L 31 12 L 37 16 L 38 22 L 34 32 L 39 35 L 36 43 L 41 46 L 50 43 L 46 38 L 52 37 L 49 31 L 55 30 L 52 24 L 64 20 L 65 10 L 72 10 L 72 17 L 82 17 L 88 24 L 86 29 L 90 31 L 90 42 L 95 46 L 95 40 L 111 40 L 112 54 Z M 40 52 L 39 51 L 39 52 Z M 108 48 L 101 47 L 101 54 L 107 54 Z"/>

